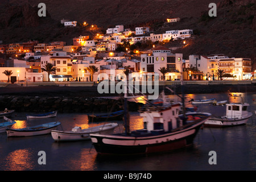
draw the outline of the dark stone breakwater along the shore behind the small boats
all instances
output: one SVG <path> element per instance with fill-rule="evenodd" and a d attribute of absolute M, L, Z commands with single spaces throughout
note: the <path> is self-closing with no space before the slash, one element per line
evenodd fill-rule
<path fill-rule="evenodd" d="M 128 102 L 130 111 L 138 111 L 143 104 Z M 32 97 L 0 96 L 0 109 L 18 112 L 47 112 L 58 110 L 60 113 L 98 113 L 123 109 L 123 100 L 88 97 Z"/>

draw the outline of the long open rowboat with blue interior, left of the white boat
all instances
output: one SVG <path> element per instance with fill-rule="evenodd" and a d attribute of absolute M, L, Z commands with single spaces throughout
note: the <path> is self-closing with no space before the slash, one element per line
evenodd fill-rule
<path fill-rule="evenodd" d="M 36 135 L 45 135 L 51 133 L 51 131 L 55 130 L 59 125 L 60 122 L 51 122 L 23 129 L 6 129 L 7 137 L 31 137 Z"/>

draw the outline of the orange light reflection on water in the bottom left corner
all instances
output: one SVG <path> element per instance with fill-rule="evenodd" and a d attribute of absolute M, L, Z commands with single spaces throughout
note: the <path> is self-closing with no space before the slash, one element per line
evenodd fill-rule
<path fill-rule="evenodd" d="M 30 150 L 20 149 L 11 152 L 7 158 L 9 171 L 24 171 L 33 169 L 34 159 L 32 160 L 32 153 Z M 37 162 L 37 161 L 36 161 Z"/>

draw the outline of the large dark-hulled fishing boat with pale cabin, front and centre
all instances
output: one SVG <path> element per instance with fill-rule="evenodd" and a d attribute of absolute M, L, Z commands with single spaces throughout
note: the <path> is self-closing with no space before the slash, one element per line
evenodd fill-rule
<path fill-rule="evenodd" d="M 90 134 L 90 139 L 98 154 L 102 155 L 147 154 L 191 146 L 200 127 L 211 114 L 179 114 L 180 109 L 180 104 L 144 106 L 139 110 L 143 117 L 143 129 L 129 132 L 129 125 L 126 124 L 125 133 Z M 125 123 L 129 123 L 129 117 L 124 118 Z"/>

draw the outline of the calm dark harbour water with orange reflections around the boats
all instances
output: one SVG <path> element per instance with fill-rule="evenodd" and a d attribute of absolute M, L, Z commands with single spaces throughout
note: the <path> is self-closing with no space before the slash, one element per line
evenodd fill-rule
<path fill-rule="evenodd" d="M 90 140 L 80 142 L 55 142 L 51 135 L 35 137 L 7 138 L 0 134 L 0 170 L 1 171 L 176 171 L 176 170 L 255 170 L 256 169 L 256 128 L 255 114 L 256 94 L 243 94 L 242 98 L 250 104 L 253 112 L 244 126 L 224 129 L 204 128 L 197 134 L 190 148 L 162 154 L 141 156 L 99 156 Z M 179 101 L 176 97 L 170 96 Z M 239 97 L 228 97 L 228 94 L 188 94 L 186 100 L 216 98 L 217 101 L 241 102 Z M 142 100 L 143 101 L 143 100 Z M 192 106 L 188 104 L 187 106 Z M 213 115 L 224 115 L 225 106 L 209 104 L 198 105 L 200 111 Z M 27 113 L 15 113 L 17 122 L 14 128 L 40 125 L 60 121 L 59 130 L 71 130 L 75 126 L 82 129 L 101 125 L 88 123 L 87 113 L 63 114 L 56 118 L 31 119 L 26 121 Z M 119 127 L 115 132 L 123 131 L 122 121 L 116 121 Z M 142 129 L 143 121 L 139 113 L 131 113 L 131 130 Z M 46 165 L 39 165 L 39 151 L 46 152 Z M 209 151 L 216 151 L 217 164 L 210 165 Z"/>

